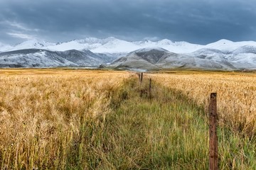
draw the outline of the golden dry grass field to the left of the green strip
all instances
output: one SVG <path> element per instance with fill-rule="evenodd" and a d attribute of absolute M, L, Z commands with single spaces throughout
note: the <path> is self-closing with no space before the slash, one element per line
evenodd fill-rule
<path fill-rule="evenodd" d="M 105 118 L 110 94 L 128 76 L 127 72 L 0 69 L 1 168 L 64 168 L 82 123 Z"/>

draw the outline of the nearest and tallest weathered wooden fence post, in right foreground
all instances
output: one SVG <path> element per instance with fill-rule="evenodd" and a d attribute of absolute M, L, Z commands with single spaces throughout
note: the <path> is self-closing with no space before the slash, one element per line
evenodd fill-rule
<path fill-rule="evenodd" d="M 209 106 L 209 169 L 218 169 L 218 136 L 217 136 L 217 94 L 210 94 Z"/>

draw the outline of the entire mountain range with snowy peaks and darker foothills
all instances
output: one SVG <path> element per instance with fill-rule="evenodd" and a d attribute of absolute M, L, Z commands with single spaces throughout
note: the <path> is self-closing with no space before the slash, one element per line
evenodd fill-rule
<path fill-rule="evenodd" d="M 256 69 L 256 42 L 218 40 L 208 45 L 171 40 L 129 42 L 85 38 L 68 42 L 0 42 L 0 67 L 106 67 L 118 69 Z"/>

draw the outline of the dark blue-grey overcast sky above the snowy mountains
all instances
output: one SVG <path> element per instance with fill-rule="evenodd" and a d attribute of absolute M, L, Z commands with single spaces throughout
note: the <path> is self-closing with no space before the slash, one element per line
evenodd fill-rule
<path fill-rule="evenodd" d="M 256 41 L 255 0 L 0 0 L 0 42 Z"/>

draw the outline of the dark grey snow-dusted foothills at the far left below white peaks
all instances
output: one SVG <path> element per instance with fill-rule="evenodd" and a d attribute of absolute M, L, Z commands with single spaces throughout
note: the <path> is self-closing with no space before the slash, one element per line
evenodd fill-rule
<path fill-rule="evenodd" d="M 107 59 L 89 50 L 26 49 L 0 53 L 0 67 L 97 67 Z"/>

